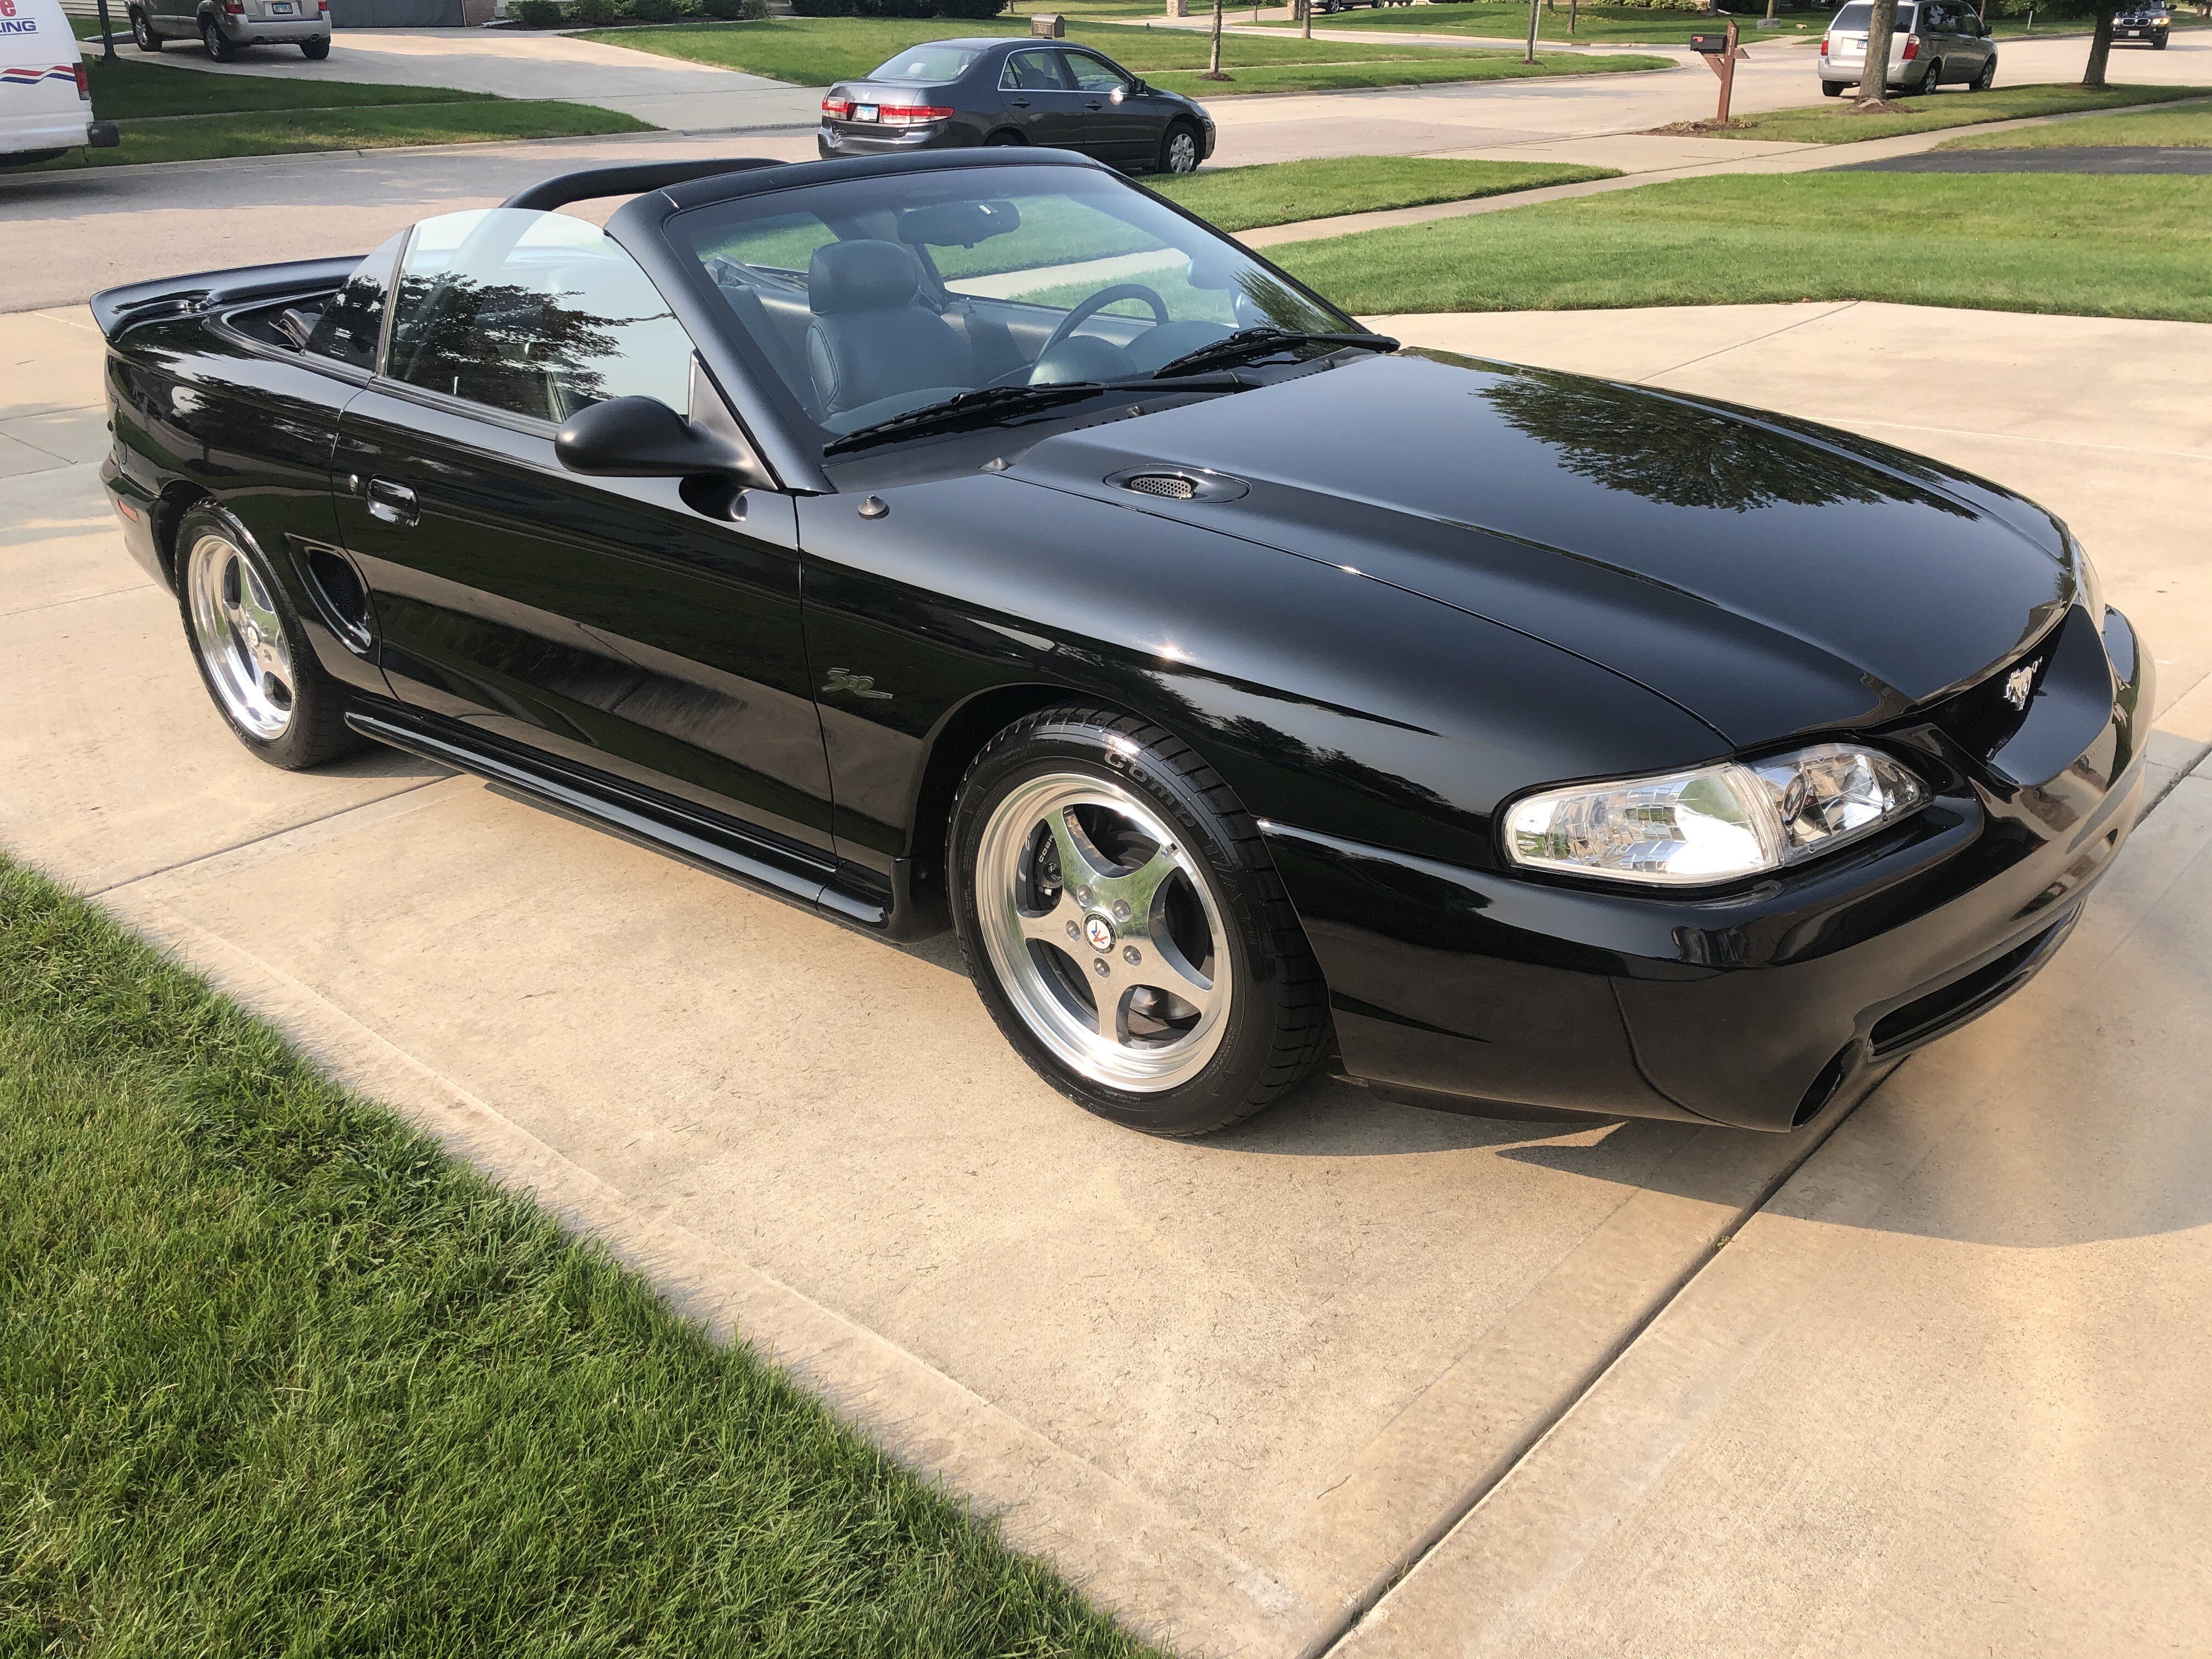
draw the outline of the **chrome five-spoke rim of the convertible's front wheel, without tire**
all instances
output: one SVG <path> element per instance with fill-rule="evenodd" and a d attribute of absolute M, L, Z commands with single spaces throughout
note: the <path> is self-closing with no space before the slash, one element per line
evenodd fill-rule
<path fill-rule="evenodd" d="M 1029 1031 L 1108 1088 L 1175 1088 L 1212 1060 L 1232 969 L 1179 836 L 1128 790 L 1051 772 L 1013 787 L 975 847 L 975 909 Z"/>

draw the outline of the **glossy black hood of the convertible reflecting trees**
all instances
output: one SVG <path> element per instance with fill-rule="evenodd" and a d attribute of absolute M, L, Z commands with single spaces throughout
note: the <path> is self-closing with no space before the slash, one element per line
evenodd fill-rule
<path fill-rule="evenodd" d="M 1223 487 L 1161 500 L 1110 482 L 1146 469 Z M 1966 473 L 1783 416 L 1442 354 L 1084 427 L 1013 471 L 1517 628 L 1736 748 L 1973 684 L 2073 593 L 2064 526 Z"/>

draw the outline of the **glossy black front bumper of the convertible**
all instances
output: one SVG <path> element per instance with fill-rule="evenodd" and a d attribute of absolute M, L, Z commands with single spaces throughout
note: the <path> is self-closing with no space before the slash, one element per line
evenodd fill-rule
<path fill-rule="evenodd" d="M 2053 686 L 1989 757 L 1933 726 L 1889 732 L 1942 774 L 1929 807 L 1721 898 L 1460 869 L 1270 825 L 1347 1075 L 1429 1104 L 1787 1130 L 1989 1011 L 2055 956 L 2143 810 L 2150 661 L 2117 611 L 2101 639 L 2088 613 L 2066 626 L 2101 644 L 2101 726 Z"/>

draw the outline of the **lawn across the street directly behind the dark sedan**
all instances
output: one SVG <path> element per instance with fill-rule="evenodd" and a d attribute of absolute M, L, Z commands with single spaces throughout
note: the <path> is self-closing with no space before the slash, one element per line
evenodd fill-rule
<path fill-rule="evenodd" d="M 918 22 L 889 18 L 763 18 L 761 22 L 703 22 L 668 29 L 595 29 L 582 40 L 608 46 L 688 58 L 699 64 L 741 69 L 794 86 L 827 86 L 834 80 L 858 80 L 876 64 L 922 40 L 953 35 L 1026 35 L 1026 18 L 991 18 L 987 22 L 953 22 L 922 18 Z M 1068 24 L 1068 40 L 1097 46 L 1124 69 L 1150 75 L 1161 69 L 1206 69 L 1206 35 L 1194 29 L 1144 29 L 1110 22 Z M 1464 46 L 1360 46 L 1343 40 L 1276 40 L 1265 35 L 1223 35 L 1221 62 L 1228 69 L 1261 64 L 1345 64 L 1345 62 L 1462 62 Z"/>

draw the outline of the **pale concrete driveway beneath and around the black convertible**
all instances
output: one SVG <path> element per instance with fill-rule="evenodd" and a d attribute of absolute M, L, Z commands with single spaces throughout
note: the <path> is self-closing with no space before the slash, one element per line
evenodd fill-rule
<path fill-rule="evenodd" d="M 80 310 L 0 316 L 0 843 L 1181 1652 L 2166 1650 L 2212 1630 L 2212 774 L 2174 783 L 2212 739 L 2212 327 L 1982 316 L 1807 372 L 1900 321 L 1418 323 L 1973 456 L 2075 518 L 2166 661 L 2172 792 L 2077 942 L 1825 1146 L 1334 1084 L 1150 1141 L 1040 1086 L 945 942 L 407 757 L 261 768 L 100 504 Z M 2146 425 L 2154 467 L 2099 471 Z"/>

